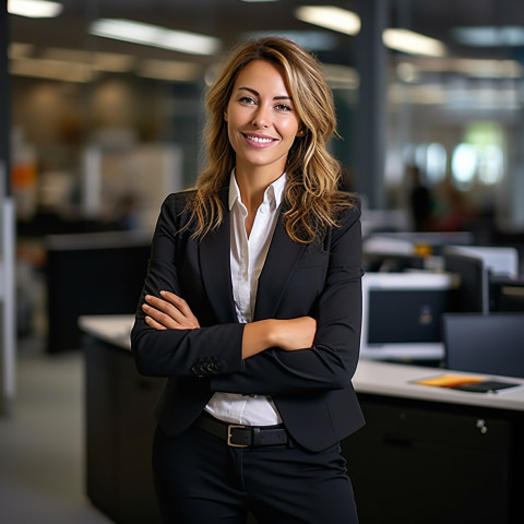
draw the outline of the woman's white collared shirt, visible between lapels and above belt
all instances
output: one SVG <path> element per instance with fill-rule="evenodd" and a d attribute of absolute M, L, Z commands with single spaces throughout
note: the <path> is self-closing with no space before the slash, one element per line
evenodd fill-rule
<path fill-rule="evenodd" d="M 253 320 L 259 276 L 273 238 L 285 184 L 284 174 L 266 188 L 248 238 L 246 231 L 248 210 L 242 203 L 235 170 L 231 172 L 229 182 L 231 283 L 237 319 L 242 323 Z M 231 424 L 270 426 L 282 422 L 274 402 L 264 395 L 215 393 L 206 410 L 216 418 Z"/>

